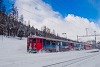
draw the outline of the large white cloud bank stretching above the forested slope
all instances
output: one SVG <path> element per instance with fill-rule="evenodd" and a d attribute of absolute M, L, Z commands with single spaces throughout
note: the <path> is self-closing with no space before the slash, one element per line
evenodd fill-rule
<path fill-rule="evenodd" d="M 53 11 L 51 6 L 42 0 L 16 0 L 16 6 L 19 14 L 23 14 L 24 19 L 30 20 L 30 24 L 38 29 L 46 25 L 52 30 L 55 29 L 56 33 L 61 36 L 63 36 L 62 33 L 67 33 L 67 37 L 74 40 L 77 35 L 85 35 L 86 28 L 88 28 L 88 34 L 94 34 L 95 30 L 98 34 L 100 33 L 100 27 L 94 22 L 73 14 L 62 18 L 58 12 Z"/>

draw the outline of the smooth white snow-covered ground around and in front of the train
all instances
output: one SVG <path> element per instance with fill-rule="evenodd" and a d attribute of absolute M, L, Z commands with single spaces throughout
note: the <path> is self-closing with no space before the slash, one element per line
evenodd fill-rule
<path fill-rule="evenodd" d="M 95 50 L 32 54 L 27 53 L 26 45 L 26 38 L 19 40 L 17 37 L 0 36 L 0 67 L 43 67 L 64 61 L 63 67 L 100 67 L 100 52 L 91 52 Z"/>

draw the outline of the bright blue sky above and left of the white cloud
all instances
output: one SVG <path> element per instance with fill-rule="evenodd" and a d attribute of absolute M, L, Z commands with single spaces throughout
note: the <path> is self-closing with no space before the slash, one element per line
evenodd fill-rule
<path fill-rule="evenodd" d="M 48 3 L 54 11 L 59 12 L 63 17 L 74 14 L 89 20 L 98 20 L 100 15 L 99 0 L 43 0 Z M 7 11 L 11 9 L 13 0 L 4 0 Z"/>

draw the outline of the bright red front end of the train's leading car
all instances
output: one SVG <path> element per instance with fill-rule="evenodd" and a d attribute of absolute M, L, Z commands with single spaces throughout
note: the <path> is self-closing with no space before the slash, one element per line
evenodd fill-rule
<path fill-rule="evenodd" d="M 43 39 L 42 38 L 27 38 L 27 51 L 28 52 L 37 52 L 42 50 Z"/>

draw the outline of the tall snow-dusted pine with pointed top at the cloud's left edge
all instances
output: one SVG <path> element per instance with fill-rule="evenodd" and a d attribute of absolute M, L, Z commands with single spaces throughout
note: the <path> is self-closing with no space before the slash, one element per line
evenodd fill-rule
<path fill-rule="evenodd" d="M 18 22 L 18 10 L 17 7 L 12 4 L 12 8 L 10 10 L 8 16 L 8 36 L 16 36 L 17 35 L 17 22 Z"/>

